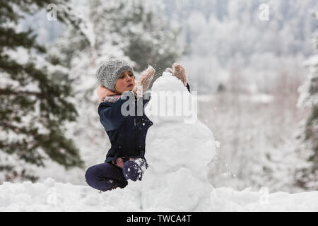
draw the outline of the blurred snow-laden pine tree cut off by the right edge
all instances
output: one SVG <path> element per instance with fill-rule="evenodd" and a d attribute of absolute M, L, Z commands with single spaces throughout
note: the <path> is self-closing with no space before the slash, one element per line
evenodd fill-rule
<path fill-rule="evenodd" d="M 318 19 L 318 15 L 316 15 Z M 318 50 L 318 35 L 315 38 Z M 305 83 L 300 87 L 298 107 L 310 107 L 310 115 L 305 122 L 304 141 L 302 146 L 306 152 L 307 167 L 298 173 L 298 185 L 307 189 L 318 189 L 318 54 L 307 61 L 310 74 Z"/>

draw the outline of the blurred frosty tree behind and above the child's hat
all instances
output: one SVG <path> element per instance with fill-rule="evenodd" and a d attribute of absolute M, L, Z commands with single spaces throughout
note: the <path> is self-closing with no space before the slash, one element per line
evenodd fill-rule
<path fill-rule="evenodd" d="M 136 71 L 151 64 L 159 76 L 184 53 L 179 25 L 170 23 L 160 7 L 148 1 L 90 1 L 90 18 L 98 25 L 96 35 L 105 37 L 100 41 L 112 40 L 135 62 Z"/>

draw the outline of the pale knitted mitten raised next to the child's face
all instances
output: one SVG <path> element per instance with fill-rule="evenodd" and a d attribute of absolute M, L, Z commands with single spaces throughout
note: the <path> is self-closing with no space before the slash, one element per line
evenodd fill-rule
<path fill-rule="evenodd" d="M 142 97 L 143 94 L 148 89 L 151 81 L 153 80 L 153 76 L 155 75 L 155 69 L 152 66 L 148 66 L 148 69 L 141 73 L 139 80 L 136 81 L 136 84 L 131 90 L 136 97 Z"/>

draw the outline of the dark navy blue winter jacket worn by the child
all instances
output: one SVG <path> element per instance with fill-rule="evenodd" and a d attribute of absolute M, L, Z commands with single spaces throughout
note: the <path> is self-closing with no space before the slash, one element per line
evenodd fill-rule
<path fill-rule="evenodd" d="M 110 138 L 111 148 L 108 150 L 105 162 L 112 162 L 118 157 L 142 157 L 145 155 L 145 141 L 148 128 L 153 122 L 146 117 L 144 107 L 150 100 L 151 93 L 146 93 L 139 98 L 139 105 L 143 107 L 142 116 L 137 115 L 137 98 L 131 91 L 123 95 L 133 98 L 134 115 L 124 116 L 121 112 L 122 105 L 128 100 L 119 99 L 116 102 L 101 102 L 98 107 L 100 122 Z M 148 100 L 147 100 L 148 99 Z M 125 106 L 125 105 L 124 105 Z M 129 106 L 126 107 L 129 110 Z"/>

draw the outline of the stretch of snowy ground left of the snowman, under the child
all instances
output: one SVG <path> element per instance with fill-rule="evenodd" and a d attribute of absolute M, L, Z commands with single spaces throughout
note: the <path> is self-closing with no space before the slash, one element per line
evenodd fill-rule
<path fill-rule="evenodd" d="M 0 211 L 136 211 L 141 210 L 141 182 L 129 189 L 104 193 L 89 186 L 57 183 L 52 178 L 43 183 L 24 182 L 0 186 Z"/>

